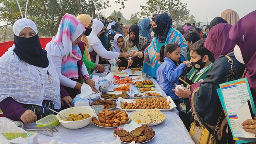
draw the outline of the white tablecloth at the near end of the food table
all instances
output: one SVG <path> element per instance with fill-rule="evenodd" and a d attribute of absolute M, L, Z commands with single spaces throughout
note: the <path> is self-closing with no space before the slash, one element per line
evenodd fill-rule
<path fill-rule="evenodd" d="M 163 112 L 166 115 L 162 124 L 151 126 L 155 131 L 155 137 L 146 144 L 194 144 L 189 132 L 175 113 Z M 59 132 L 53 137 L 38 134 L 38 144 L 49 144 L 55 139 L 63 143 L 99 144 L 102 141 L 114 141 L 113 130 L 115 128 L 102 128 L 90 123 L 87 127 L 70 130 L 58 125 Z"/>

